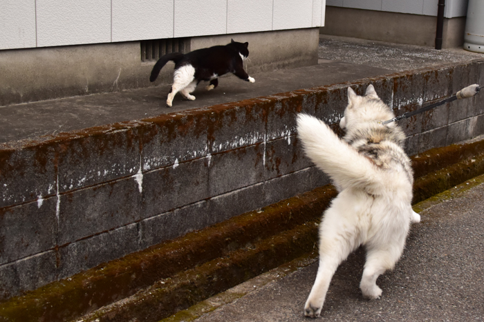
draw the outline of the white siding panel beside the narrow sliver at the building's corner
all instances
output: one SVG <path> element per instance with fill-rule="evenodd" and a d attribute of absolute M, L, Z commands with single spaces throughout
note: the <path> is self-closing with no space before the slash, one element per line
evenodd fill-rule
<path fill-rule="evenodd" d="M 313 25 L 313 0 L 274 0 L 272 30 L 310 28 Z"/>

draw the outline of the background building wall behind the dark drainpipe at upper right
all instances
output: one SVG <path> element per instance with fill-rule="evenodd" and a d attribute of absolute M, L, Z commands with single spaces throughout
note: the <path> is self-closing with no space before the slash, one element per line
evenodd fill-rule
<path fill-rule="evenodd" d="M 445 1 L 443 48 L 463 45 L 467 1 Z M 438 0 L 328 0 L 326 4 L 322 34 L 435 46 Z"/>

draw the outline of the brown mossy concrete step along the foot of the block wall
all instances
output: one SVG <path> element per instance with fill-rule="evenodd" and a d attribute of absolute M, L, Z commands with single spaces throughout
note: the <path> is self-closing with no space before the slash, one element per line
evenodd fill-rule
<path fill-rule="evenodd" d="M 418 202 L 484 173 L 484 141 L 432 149 L 412 162 Z M 158 321 L 312 252 L 317 222 L 335 193 L 326 185 L 100 265 L 1 303 L 0 316 Z"/>

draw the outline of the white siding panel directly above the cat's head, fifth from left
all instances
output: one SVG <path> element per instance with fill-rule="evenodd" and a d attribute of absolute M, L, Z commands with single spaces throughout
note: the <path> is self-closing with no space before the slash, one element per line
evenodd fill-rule
<path fill-rule="evenodd" d="M 272 29 L 272 0 L 228 0 L 227 33 Z"/>

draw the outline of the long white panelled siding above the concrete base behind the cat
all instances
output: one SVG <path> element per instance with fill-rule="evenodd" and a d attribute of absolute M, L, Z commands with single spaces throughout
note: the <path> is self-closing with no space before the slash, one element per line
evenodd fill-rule
<path fill-rule="evenodd" d="M 0 0 L 0 50 L 324 26 L 326 0 Z"/>

